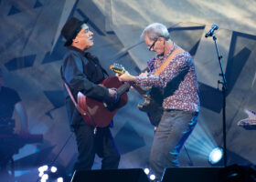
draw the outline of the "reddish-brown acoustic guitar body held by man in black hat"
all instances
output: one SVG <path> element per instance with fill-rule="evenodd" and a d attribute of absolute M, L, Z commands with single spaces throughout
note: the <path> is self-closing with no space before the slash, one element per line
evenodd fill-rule
<path fill-rule="evenodd" d="M 123 86 L 116 76 L 107 77 L 101 82 L 101 85 L 107 88 L 119 88 L 120 86 Z M 128 101 L 128 96 L 125 91 L 120 95 L 119 101 L 114 103 L 112 109 L 109 110 L 106 108 L 106 103 L 102 103 L 79 93 L 78 105 L 84 111 L 84 114 L 81 114 L 81 116 L 85 123 L 89 126 L 109 126 L 117 110 L 126 105 Z"/>

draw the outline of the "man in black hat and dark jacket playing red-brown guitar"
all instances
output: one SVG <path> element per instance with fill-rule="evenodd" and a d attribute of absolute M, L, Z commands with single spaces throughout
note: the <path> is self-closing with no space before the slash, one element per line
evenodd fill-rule
<path fill-rule="evenodd" d="M 106 71 L 101 67 L 95 56 L 85 51 L 93 45 L 92 35 L 88 25 L 75 17 L 63 26 L 61 34 L 65 37 L 67 53 L 63 58 L 61 76 L 69 86 L 70 94 L 76 98 L 79 92 L 98 101 L 115 102 L 117 94 L 114 89 L 99 86 L 106 78 Z M 66 107 L 69 123 L 76 135 L 79 151 L 75 170 L 91 169 L 95 154 L 102 157 L 101 168 L 117 168 L 120 160 L 109 127 L 97 128 L 88 126 L 80 112 L 72 102 L 67 90 Z M 96 132 L 95 132 L 96 131 Z"/>

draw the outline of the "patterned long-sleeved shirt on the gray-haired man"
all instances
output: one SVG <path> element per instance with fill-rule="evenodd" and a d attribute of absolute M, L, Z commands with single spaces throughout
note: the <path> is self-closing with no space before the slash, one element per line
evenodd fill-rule
<path fill-rule="evenodd" d="M 192 56 L 187 52 L 177 54 L 165 70 L 158 76 L 155 71 L 176 49 L 177 45 L 165 56 L 156 56 L 151 76 L 137 76 L 136 84 L 140 86 L 162 87 L 164 109 L 178 109 L 199 112 L 197 74 Z"/>

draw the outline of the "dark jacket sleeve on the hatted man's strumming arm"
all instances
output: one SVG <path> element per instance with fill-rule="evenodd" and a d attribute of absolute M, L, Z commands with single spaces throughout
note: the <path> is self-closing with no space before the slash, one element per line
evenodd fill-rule
<path fill-rule="evenodd" d="M 107 88 L 92 83 L 83 73 L 81 57 L 70 54 L 64 59 L 62 73 L 73 96 L 81 92 L 85 96 L 103 101 L 109 97 Z"/>

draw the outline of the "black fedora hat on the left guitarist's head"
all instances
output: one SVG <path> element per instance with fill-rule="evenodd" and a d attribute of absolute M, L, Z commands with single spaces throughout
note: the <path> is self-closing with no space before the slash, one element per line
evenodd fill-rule
<path fill-rule="evenodd" d="M 65 46 L 72 44 L 73 38 L 75 38 L 81 30 L 81 25 L 86 24 L 87 22 L 88 19 L 80 21 L 76 17 L 71 17 L 68 22 L 66 22 L 66 24 L 61 29 L 61 35 L 63 35 L 66 39 L 66 43 L 64 44 Z"/>

